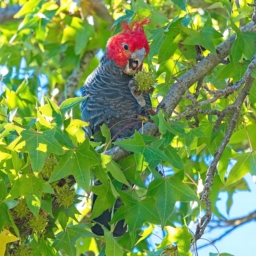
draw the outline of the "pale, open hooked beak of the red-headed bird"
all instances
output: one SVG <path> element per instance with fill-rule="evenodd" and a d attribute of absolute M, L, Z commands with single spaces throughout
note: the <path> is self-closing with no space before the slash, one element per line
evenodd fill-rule
<path fill-rule="evenodd" d="M 131 54 L 131 58 L 127 61 L 127 65 L 124 68 L 124 73 L 128 75 L 134 75 L 138 72 L 138 68 L 141 68 L 146 56 L 145 48 L 141 48 Z"/>

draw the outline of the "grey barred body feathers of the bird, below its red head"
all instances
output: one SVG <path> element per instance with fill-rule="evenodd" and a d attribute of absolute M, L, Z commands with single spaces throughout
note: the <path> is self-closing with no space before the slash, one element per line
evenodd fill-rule
<path fill-rule="evenodd" d="M 141 108 L 128 86 L 132 78 L 113 60 L 102 57 L 83 87 L 83 96 L 89 95 L 81 106 L 82 119 L 90 122 L 90 127 L 85 127 L 88 136 L 99 132 L 102 124 L 109 127 L 112 138 L 118 134 L 115 139 L 131 136 L 141 126 L 138 115 L 148 116 L 151 102 L 149 96 L 144 95 L 146 106 Z"/>

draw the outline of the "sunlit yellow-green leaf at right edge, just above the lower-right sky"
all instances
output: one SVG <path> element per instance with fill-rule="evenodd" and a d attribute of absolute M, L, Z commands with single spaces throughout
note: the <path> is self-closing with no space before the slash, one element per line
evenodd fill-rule
<path fill-rule="evenodd" d="M 236 157 L 232 157 L 236 160 L 236 164 L 230 170 L 226 186 L 240 180 L 248 172 L 256 172 L 256 152 L 249 152 L 244 154 L 239 154 Z"/>

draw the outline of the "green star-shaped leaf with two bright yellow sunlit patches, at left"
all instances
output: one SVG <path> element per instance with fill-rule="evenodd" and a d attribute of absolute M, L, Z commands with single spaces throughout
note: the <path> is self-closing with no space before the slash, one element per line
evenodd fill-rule
<path fill-rule="evenodd" d="M 63 154 L 63 149 L 54 138 L 54 133 L 55 129 L 44 132 L 19 131 L 20 136 L 8 148 L 10 150 L 28 152 L 33 171 L 40 172 L 44 166 L 47 152 Z"/>

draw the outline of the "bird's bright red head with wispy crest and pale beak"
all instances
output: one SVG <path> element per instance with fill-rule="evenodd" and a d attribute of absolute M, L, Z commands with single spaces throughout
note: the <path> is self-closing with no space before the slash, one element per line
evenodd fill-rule
<path fill-rule="evenodd" d="M 122 32 L 108 40 L 106 57 L 124 68 L 125 74 L 133 75 L 141 70 L 149 52 L 147 36 L 142 27 L 145 24 L 148 24 L 148 19 L 132 24 L 125 22 L 122 24 Z"/>

